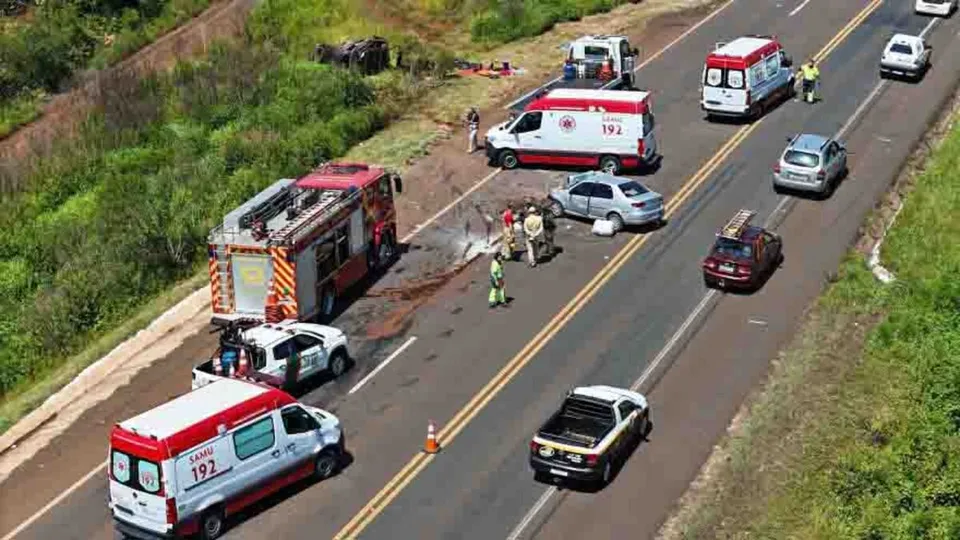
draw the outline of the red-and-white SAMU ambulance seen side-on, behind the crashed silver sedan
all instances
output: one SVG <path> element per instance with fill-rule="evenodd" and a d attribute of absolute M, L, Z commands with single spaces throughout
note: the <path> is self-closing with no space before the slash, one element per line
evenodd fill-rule
<path fill-rule="evenodd" d="M 486 152 L 505 169 L 561 165 L 617 174 L 657 159 L 654 127 L 649 92 L 563 88 L 490 128 Z"/>

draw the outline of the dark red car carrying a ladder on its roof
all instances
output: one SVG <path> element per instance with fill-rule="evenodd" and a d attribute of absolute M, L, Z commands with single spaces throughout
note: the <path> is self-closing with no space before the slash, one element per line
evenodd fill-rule
<path fill-rule="evenodd" d="M 740 210 L 717 233 L 703 261 L 703 283 L 710 289 L 755 289 L 783 261 L 779 235 L 750 225 L 756 215 Z"/>

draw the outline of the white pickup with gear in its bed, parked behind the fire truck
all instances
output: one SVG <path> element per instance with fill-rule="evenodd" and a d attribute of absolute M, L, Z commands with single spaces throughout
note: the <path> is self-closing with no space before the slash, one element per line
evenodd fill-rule
<path fill-rule="evenodd" d="M 214 356 L 193 369 L 193 389 L 227 376 L 228 359 L 233 359 L 233 367 L 239 368 L 241 350 L 246 354 L 248 371 L 237 376 L 283 390 L 321 372 L 339 377 L 350 359 L 347 336 L 330 326 L 289 320 L 247 330 L 228 329 L 221 335 Z M 216 357 L 221 359 L 222 375 L 215 373 Z"/>

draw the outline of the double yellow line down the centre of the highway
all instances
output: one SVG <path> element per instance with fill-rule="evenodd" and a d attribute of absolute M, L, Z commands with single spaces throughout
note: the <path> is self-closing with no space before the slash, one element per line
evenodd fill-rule
<path fill-rule="evenodd" d="M 823 49 L 814 55 L 814 60 L 822 61 L 836 46 L 851 32 L 863 22 L 873 11 L 875 11 L 883 0 L 873 0 L 860 13 L 850 20 L 831 39 Z M 669 219 L 679 209 L 680 206 L 689 199 L 697 188 L 703 185 L 710 178 L 710 175 L 720 166 L 738 146 L 753 133 L 763 122 L 763 119 L 744 126 L 734 133 L 733 137 L 727 140 L 720 149 L 704 163 L 700 169 L 684 183 L 677 193 L 673 195 L 666 204 L 664 217 Z M 549 342 L 566 324 L 579 312 L 587 302 L 593 298 L 614 275 L 627 263 L 644 244 L 650 239 L 650 235 L 634 236 L 601 270 L 587 285 L 574 296 L 573 300 L 567 303 L 563 309 L 557 313 L 547 325 L 537 333 L 536 336 L 514 356 L 506 366 L 503 367 L 473 398 L 447 423 L 447 425 L 437 434 L 437 440 L 441 446 L 449 445 L 456 436 L 476 417 L 483 408 L 496 397 L 507 383 L 526 366 L 536 354 Z M 343 526 L 343 528 L 334 536 L 336 540 L 345 540 L 347 538 L 356 538 L 364 529 L 366 529 L 376 517 L 383 512 L 403 489 L 413 481 L 420 472 L 427 467 L 437 454 L 418 453 L 368 502 L 353 518 Z"/>

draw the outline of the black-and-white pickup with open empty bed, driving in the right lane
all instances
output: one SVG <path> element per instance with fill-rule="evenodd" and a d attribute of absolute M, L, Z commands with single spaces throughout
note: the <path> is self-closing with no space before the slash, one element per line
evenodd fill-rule
<path fill-rule="evenodd" d="M 530 466 L 538 478 L 606 484 L 630 443 L 647 434 L 649 422 L 641 394 L 612 386 L 575 388 L 534 435 Z"/>

